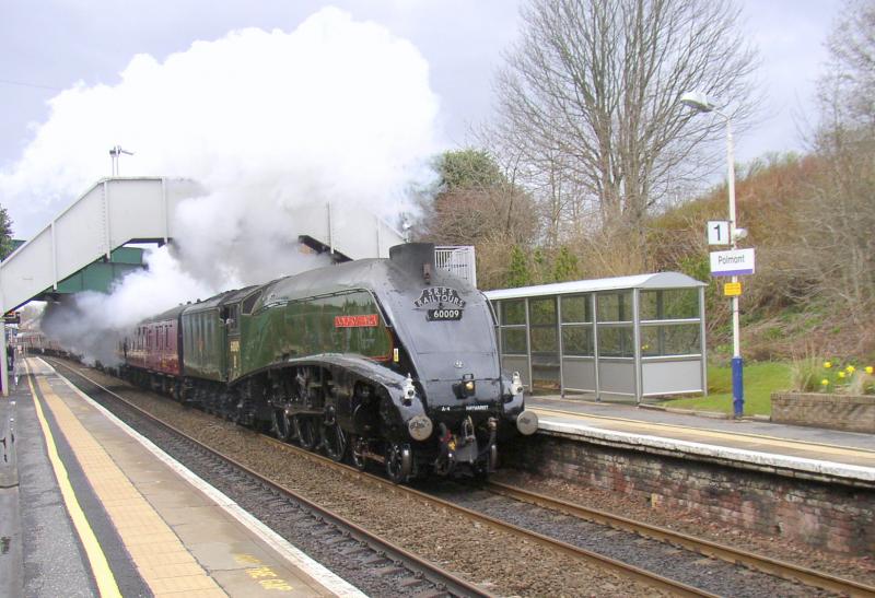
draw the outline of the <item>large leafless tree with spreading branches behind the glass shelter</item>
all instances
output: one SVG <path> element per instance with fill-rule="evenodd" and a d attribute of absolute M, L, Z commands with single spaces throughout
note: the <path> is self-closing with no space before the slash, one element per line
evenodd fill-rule
<path fill-rule="evenodd" d="M 756 57 L 738 14 L 732 0 L 533 0 L 523 9 L 522 40 L 498 79 L 497 130 L 535 171 L 547 165 L 539 172 L 551 191 L 578 194 L 551 218 L 579 216 L 591 203 L 602 226 L 643 243 L 648 211 L 675 181 L 701 174 L 701 141 L 722 139 L 722 122 L 693 118 L 680 95 L 731 101 L 736 125 L 751 116 Z"/>

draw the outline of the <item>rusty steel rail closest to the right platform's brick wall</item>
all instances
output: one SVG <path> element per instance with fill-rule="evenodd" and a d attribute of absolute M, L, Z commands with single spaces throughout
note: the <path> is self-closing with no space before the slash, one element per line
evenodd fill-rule
<path fill-rule="evenodd" d="M 639 536 L 644 536 L 661 542 L 682 547 L 688 550 L 700 552 L 708 556 L 714 556 L 723 561 L 735 564 L 744 564 L 769 575 L 774 575 L 783 579 L 800 582 L 806 586 L 814 586 L 830 591 L 847 594 L 849 596 L 865 596 L 875 598 L 875 587 L 860 584 L 851 579 L 844 579 L 821 573 L 815 570 L 794 565 L 758 554 L 751 554 L 731 547 L 719 544 L 710 540 L 703 540 L 693 536 L 688 536 L 679 531 L 652 526 L 633 519 L 628 519 L 619 515 L 614 515 L 604 511 L 574 504 L 561 499 L 553 499 L 522 488 L 511 486 L 499 482 L 489 482 L 487 490 L 502 496 L 516 501 L 535 504 L 545 508 L 559 511 L 567 515 L 580 517 L 600 525 L 610 526 L 615 529 L 631 531 Z"/>

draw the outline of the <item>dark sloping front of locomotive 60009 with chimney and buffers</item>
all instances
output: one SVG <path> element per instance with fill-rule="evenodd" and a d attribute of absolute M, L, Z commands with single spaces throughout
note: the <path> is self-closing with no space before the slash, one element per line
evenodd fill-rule
<path fill-rule="evenodd" d="M 390 290 L 381 298 L 390 306 L 415 370 L 410 382 L 424 406 L 424 419 L 408 421 L 413 448 L 438 473 L 460 467 L 486 474 L 497 466 L 499 435 L 537 429 L 536 415 L 524 412 L 518 376 L 501 374 L 489 302 L 466 281 L 435 269 L 431 244 L 396 246 L 389 255 Z"/>

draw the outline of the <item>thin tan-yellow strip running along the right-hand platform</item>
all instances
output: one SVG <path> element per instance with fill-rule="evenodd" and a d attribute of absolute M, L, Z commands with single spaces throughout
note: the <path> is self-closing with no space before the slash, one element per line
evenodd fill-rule
<path fill-rule="evenodd" d="M 617 427 L 621 429 L 645 429 L 651 431 L 652 433 L 658 433 L 656 431 L 664 430 L 664 431 L 679 431 L 684 434 L 689 434 L 691 436 L 703 437 L 705 439 L 724 439 L 724 441 L 732 441 L 738 444 L 760 444 L 760 445 L 768 445 L 774 447 L 783 447 L 783 448 L 794 448 L 796 450 L 802 450 L 805 453 L 821 453 L 827 455 L 843 455 L 847 457 L 863 457 L 863 458 L 873 458 L 875 457 L 875 452 L 866 449 L 866 448 L 853 448 L 853 447 L 845 447 L 845 446 L 838 446 L 838 445 L 828 445 L 828 444 L 820 444 L 820 443 L 812 443 L 808 441 L 794 441 L 788 438 L 779 438 L 777 436 L 767 436 L 767 435 L 759 435 L 759 434 L 751 434 L 749 432 L 744 433 L 735 433 L 735 432 L 720 432 L 718 430 L 711 430 L 707 427 L 691 427 L 687 425 L 677 425 L 670 423 L 661 423 L 661 422 L 645 422 L 641 420 L 631 420 L 626 418 L 616 418 L 610 415 L 595 415 L 592 413 L 581 413 L 578 411 L 565 411 L 563 409 L 551 409 L 548 407 L 530 407 L 533 411 L 541 412 L 544 414 L 559 414 L 559 415 L 569 415 L 575 419 L 581 420 L 603 420 L 616 423 Z M 609 429 L 606 429 L 609 430 Z"/>

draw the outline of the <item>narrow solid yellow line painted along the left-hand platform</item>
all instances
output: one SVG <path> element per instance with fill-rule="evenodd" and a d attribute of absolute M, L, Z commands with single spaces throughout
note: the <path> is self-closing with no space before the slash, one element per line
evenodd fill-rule
<path fill-rule="evenodd" d="M 94 530 L 91 529 L 91 525 L 89 525 L 88 517 L 85 517 L 85 513 L 82 511 L 82 506 L 79 504 L 79 500 L 75 497 L 75 492 L 73 491 L 73 486 L 70 483 L 70 478 L 67 474 L 67 468 L 63 466 L 63 461 L 61 461 L 61 458 L 58 455 L 58 447 L 55 444 L 55 437 L 52 436 L 51 430 L 46 421 L 46 417 L 43 413 L 43 407 L 40 406 L 39 399 L 36 396 L 33 377 L 30 375 L 30 368 L 27 367 L 26 362 L 25 370 L 27 372 L 27 384 L 31 387 L 31 395 L 34 398 L 36 417 L 39 420 L 39 427 L 43 430 L 43 436 L 46 439 L 48 459 L 51 464 L 51 469 L 55 471 L 55 478 L 58 480 L 58 488 L 60 488 L 61 496 L 63 497 L 63 504 L 67 506 L 67 512 L 70 514 L 70 518 L 73 521 L 75 532 L 79 535 L 82 547 L 85 549 L 85 555 L 89 560 L 89 565 L 91 566 L 92 574 L 94 575 L 94 581 L 97 583 L 97 591 L 100 591 L 101 596 L 105 598 L 114 596 L 120 597 L 121 593 L 118 589 L 115 575 L 113 575 L 113 571 L 109 568 L 109 563 L 106 561 L 106 554 L 104 554 L 101 543 L 97 541 L 96 536 L 94 536 Z"/>

